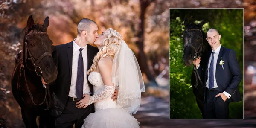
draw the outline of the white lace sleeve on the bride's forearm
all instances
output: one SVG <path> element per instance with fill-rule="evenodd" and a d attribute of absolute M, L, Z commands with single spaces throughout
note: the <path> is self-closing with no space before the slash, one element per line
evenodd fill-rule
<path fill-rule="evenodd" d="M 115 87 L 114 86 L 108 86 L 108 85 L 104 85 L 105 88 L 104 90 L 102 90 L 101 92 L 94 94 L 93 96 L 90 96 L 89 101 L 87 101 L 87 105 L 90 105 L 94 102 L 100 101 L 102 99 L 106 99 L 109 96 L 111 96 L 114 91 L 115 91 Z"/>

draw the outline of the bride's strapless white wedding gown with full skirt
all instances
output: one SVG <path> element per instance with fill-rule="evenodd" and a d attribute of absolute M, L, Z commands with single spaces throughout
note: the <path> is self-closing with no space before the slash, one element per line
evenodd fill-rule
<path fill-rule="evenodd" d="M 93 84 L 95 94 L 102 91 L 105 86 L 102 81 L 101 74 L 91 72 L 88 80 Z M 94 103 L 95 113 L 90 113 L 82 128 L 140 128 L 140 122 L 116 105 L 116 102 L 109 96 L 106 99 Z"/>

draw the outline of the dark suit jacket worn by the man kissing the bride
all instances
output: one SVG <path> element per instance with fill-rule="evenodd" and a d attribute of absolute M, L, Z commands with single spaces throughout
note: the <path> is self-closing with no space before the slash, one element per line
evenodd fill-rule
<path fill-rule="evenodd" d="M 88 69 L 93 64 L 93 57 L 99 50 L 96 47 L 87 45 Z M 67 44 L 55 46 L 52 52 L 53 61 L 58 69 L 57 79 L 52 83 L 52 110 L 53 116 L 60 116 L 66 105 L 71 85 L 73 41 Z M 88 81 L 91 92 L 93 85 Z"/>

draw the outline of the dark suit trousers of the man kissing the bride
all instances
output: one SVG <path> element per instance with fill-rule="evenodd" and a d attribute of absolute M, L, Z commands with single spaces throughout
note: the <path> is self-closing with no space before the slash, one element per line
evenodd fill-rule
<path fill-rule="evenodd" d="M 94 112 L 94 105 L 91 104 L 86 108 L 77 108 L 76 102 L 68 100 L 61 116 L 55 120 L 56 128 L 72 128 L 75 124 L 76 128 L 81 128 L 84 124 L 84 119 Z"/>

